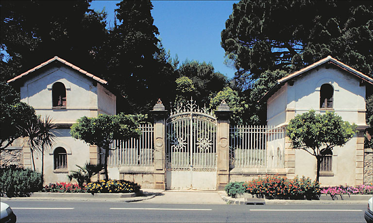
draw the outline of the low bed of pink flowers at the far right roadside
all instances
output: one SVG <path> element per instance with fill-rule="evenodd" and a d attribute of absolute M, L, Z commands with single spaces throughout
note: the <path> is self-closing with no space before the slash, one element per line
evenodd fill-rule
<path fill-rule="evenodd" d="M 322 194 L 329 194 L 333 199 L 337 195 L 351 195 L 351 194 L 373 194 L 373 185 L 372 183 L 369 185 L 358 185 L 358 186 L 347 186 L 346 185 L 339 185 L 334 187 L 322 187 L 321 188 Z"/>

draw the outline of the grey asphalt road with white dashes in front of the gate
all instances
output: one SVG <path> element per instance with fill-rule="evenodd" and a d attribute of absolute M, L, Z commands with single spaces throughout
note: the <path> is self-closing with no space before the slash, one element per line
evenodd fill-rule
<path fill-rule="evenodd" d="M 17 222 L 361 222 L 365 204 L 212 205 L 7 200 Z"/>

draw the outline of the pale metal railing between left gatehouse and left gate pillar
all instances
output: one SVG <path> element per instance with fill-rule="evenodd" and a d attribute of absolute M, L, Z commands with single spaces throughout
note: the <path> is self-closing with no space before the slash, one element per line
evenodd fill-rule
<path fill-rule="evenodd" d="M 111 144 L 109 152 L 109 167 L 121 166 L 154 166 L 153 162 L 153 124 L 140 126 L 142 136 L 127 141 L 116 140 Z"/>

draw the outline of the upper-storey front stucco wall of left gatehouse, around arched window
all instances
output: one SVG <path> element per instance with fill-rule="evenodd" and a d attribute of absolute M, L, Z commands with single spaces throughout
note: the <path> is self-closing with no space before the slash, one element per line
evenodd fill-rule
<path fill-rule="evenodd" d="M 36 72 L 36 71 L 35 71 Z M 97 116 L 98 99 L 95 80 L 65 66 L 51 66 L 29 74 L 20 87 L 21 101 L 34 107 L 37 114 L 50 115 L 56 123 L 74 123 L 82 116 Z M 62 82 L 66 87 L 66 109 L 52 109 L 52 85 Z"/>

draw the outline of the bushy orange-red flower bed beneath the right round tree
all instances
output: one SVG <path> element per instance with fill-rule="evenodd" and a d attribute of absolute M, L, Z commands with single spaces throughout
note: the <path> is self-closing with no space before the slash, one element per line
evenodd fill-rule
<path fill-rule="evenodd" d="M 243 186 L 247 193 L 266 199 L 318 199 L 320 196 L 320 183 L 305 176 L 288 179 L 267 175 L 246 182 Z"/>

